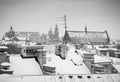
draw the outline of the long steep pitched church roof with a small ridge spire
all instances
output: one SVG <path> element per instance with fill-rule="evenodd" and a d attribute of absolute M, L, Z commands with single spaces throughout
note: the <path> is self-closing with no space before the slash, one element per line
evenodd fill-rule
<path fill-rule="evenodd" d="M 68 37 L 74 44 L 90 42 L 91 44 L 108 44 L 109 36 L 107 31 L 98 32 L 98 31 L 67 31 Z M 66 36 L 66 34 L 65 34 Z M 65 37 L 64 36 L 64 37 Z M 63 39 L 64 42 L 64 39 Z"/>

